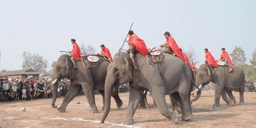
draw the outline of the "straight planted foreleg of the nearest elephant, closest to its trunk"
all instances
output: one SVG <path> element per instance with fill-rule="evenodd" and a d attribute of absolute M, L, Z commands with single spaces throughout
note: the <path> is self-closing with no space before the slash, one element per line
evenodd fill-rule
<path fill-rule="evenodd" d="M 132 86 L 130 86 L 130 94 L 129 94 L 129 104 L 127 108 L 127 114 L 124 120 L 122 121 L 122 124 L 128 125 L 128 124 L 134 124 L 133 122 L 133 116 L 134 113 L 141 102 L 143 98 L 143 92 L 142 89 L 134 89 Z"/>

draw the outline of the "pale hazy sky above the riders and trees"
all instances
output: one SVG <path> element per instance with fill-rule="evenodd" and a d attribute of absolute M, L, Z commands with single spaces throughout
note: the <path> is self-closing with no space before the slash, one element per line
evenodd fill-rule
<path fill-rule="evenodd" d="M 23 69 L 24 51 L 48 59 L 50 70 L 59 51 L 73 48 L 71 38 L 78 45 L 91 44 L 96 53 L 104 44 L 113 57 L 132 22 L 147 47 L 165 43 L 166 31 L 185 50 L 192 46 L 202 60 L 197 68 L 204 63 L 205 48 L 218 60 L 221 48 L 231 54 L 235 45 L 241 46 L 247 64 L 256 48 L 254 0 L 2 0 L 0 5 L 0 70 Z"/>

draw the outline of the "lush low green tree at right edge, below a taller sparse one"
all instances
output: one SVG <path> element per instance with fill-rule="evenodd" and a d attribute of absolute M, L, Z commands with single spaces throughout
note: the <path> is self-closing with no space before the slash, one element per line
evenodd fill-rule
<path fill-rule="evenodd" d="M 253 65 L 243 64 L 240 67 L 244 70 L 244 75 L 247 75 L 247 79 L 256 80 L 256 68 Z"/>

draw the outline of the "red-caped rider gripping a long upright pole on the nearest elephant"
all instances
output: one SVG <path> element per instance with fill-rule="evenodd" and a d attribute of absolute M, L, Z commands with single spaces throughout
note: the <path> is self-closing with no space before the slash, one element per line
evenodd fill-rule
<path fill-rule="evenodd" d="M 130 39 L 128 41 L 124 39 L 124 41 L 127 42 L 129 45 L 128 53 L 130 53 L 130 58 L 135 67 L 135 70 L 138 70 L 138 67 L 136 67 L 136 62 L 133 58 L 134 54 L 140 52 L 144 57 L 146 57 L 148 55 L 148 49 L 145 42 L 140 39 L 136 34 L 134 34 L 132 30 L 129 31 L 128 36 Z"/>

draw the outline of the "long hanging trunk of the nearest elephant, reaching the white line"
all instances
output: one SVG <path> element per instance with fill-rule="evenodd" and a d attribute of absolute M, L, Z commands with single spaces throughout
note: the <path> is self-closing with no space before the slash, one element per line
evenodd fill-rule
<path fill-rule="evenodd" d="M 112 90 L 114 88 L 114 79 L 109 78 L 108 74 L 106 77 L 106 82 L 105 82 L 105 108 L 103 115 L 101 116 L 101 121 L 100 123 L 104 123 L 105 119 L 108 116 L 109 110 L 110 110 L 110 101 L 111 101 L 111 94 Z"/>

